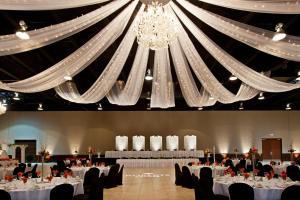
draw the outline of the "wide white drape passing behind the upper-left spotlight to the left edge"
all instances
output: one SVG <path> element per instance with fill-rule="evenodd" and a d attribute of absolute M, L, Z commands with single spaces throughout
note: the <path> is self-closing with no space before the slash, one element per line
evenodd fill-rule
<path fill-rule="evenodd" d="M 57 42 L 74 35 L 120 9 L 129 0 L 118 0 L 73 20 L 28 31 L 29 40 L 21 40 L 15 34 L 0 36 L 0 56 L 25 52 Z"/>

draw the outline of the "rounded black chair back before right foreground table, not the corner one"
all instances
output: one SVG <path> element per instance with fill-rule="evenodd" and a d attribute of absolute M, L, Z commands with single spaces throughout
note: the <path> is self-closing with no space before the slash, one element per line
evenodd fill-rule
<path fill-rule="evenodd" d="M 230 200 L 254 200 L 254 190 L 246 183 L 233 183 L 229 186 Z"/>

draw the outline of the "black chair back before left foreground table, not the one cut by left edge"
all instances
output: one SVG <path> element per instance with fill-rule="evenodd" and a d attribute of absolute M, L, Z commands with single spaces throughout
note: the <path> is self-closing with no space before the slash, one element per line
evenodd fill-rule
<path fill-rule="evenodd" d="M 72 200 L 74 187 L 71 184 L 64 183 L 55 186 L 50 191 L 50 200 Z"/>

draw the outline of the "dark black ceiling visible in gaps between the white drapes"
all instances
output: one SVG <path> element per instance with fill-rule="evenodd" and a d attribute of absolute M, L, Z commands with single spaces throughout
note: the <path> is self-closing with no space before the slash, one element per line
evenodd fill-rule
<path fill-rule="evenodd" d="M 280 14 L 261 14 L 244 11 L 226 9 L 223 7 L 213 6 L 200 1 L 191 1 L 195 5 L 219 15 L 244 22 L 253 26 L 274 30 L 278 22 L 284 23 L 284 30 L 289 35 L 300 36 L 300 15 L 280 15 Z M 86 6 L 74 9 L 55 10 L 55 11 L 0 11 L 0 35 L 12 34 L 18 28 L 20 20 L 24 20 L 29 27 L 29 30 L 38 29 L 51 24 L 64 22 L 82 14 L 93 11 L 99 6 Z M 122 9 L 121 9 L 122 10 Z M 81 31 L 71 37 L 63 39 L 54 44 L 10 56 L 0 57 L 0 80 L 3 82 L 12 82 L 31 77 L 55 63 L 59 62 L 77 48 L 87 42 L 99 30 L 106 26 L 121 10 L 100 21 L 94 26 Z M 297 62 L 277 58 L 256 49 L 248 47 L 214 29 L 207 26 L 200 20 L 193 17 L 186 10 L 183 11 L 219 46 L 223 47 L 232 56 L 237 58 L 242 63 L 245 63 L 252 69 L 261 71 L 271 71 L 271 77 L 284 80 L 286 82 L 294 82 L 297 77 L 297 72 L 300 70 L 300 65 Z M 98 59 L 96 59 L 88 68 L 74 77 L 74 81 L 79 87 L 80 92 L 88 89 L 96 78 L 101 74 L 106 64 L 109 62 L 113 52 L 118 47 L 124 34 L 108 48 Z M 217 79 L 230 91 L 236 92 L 240 86 L 240 81 L 231 82 L 228 80 L 230 73 L 222 67 L 200 44 L 196 41 L 193 35 L 190 34 L 192 41 L 203 60 L 217 77 Z M 128 77 L 130 66 L 133 62 L 137 44 L 131 50 L 130 56 L 126 65 L 119 77 L 119 80 L 125 80 Z M 154 52 L 151 51 L 148 67 L 152 68 Z M 172 69 L 173 81 L 175 85 L 176 107 L 165 110 L 197 110 L 190 108 L 185 103 L 177 82 L 174 69 Z M 199 88 L 200 88 L 200 83 Z M 149 100 L 147 99 L 151 91 L 151 82 L 145 81 L 143 93 L 135 106 L 116 106 L 108 103 L 107 99 L 101 100 L 103 110 L 146 110 Z M 42 103 L 46 111 L 77 111 L 77 110 L 97 110 L 97 104 L 75 104 L 61 99 L 56 95 L 54 90 L 48 90 L 34 94 L 20 94 L 21 100 L 15 101 L 12 99 L 13 92 L 0 90 L 0 100 L 6 99 L 8 102 L 8 110 L 11 111 L 31 111 L 37 110 L 38 104 Z M 266 99 L 263 101 L 254 98 L 243 102 L 244 110 L 285 110 L 287 103 L 291 104 L 293 110 L 300 110 L 300 90 L 294 90 L 285 93 L 265 93 Z M 217 103 L 214 106 L 206 107 L 204 110 L 238 110 L 240 102 L 232 104 Z M 161 109 L 152 109 L 161 110 Z"/>

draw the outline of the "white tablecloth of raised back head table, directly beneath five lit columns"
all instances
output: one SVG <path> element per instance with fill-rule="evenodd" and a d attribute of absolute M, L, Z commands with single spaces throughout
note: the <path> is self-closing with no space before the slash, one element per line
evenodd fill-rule
<path fill-rule="evenodd" d="M 198 151 L 106 151 L 106 158 L 203 158 Z"/>

